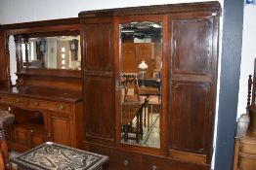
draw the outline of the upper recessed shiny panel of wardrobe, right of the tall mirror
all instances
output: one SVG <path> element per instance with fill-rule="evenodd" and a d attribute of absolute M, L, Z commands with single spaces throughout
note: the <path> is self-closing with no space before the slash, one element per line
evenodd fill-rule
<path fill-rule="evenodd" d="M 208 15 L 171 16 L 174 74 L 211 74 L 213 18 Z"/>

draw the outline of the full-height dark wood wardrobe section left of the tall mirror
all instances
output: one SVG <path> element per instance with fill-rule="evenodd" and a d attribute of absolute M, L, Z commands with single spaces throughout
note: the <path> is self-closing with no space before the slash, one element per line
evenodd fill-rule
<path fill-rule="evenodd" d="M 112 17 L 81 19 L 85 145 L 114 146 Z"/>

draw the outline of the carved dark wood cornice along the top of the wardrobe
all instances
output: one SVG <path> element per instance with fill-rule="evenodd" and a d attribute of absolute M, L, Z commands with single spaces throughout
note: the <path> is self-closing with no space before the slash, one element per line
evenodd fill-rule
<path fill-rule="evenodd" d="M 172 13 L 213 12 L 219 13 L 221 5 L 218 1 L 183 3 L 169 5 L 154 5 L 129 8 L 117 8 L 107 10 L 95 10 L 79 13 L 79 17 L 121 17 L 142 15 L 164 15 Z"/>

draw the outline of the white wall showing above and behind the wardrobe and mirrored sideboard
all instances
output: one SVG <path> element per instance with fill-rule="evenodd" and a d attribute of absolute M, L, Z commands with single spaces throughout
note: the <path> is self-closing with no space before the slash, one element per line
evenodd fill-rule
<path fill-rule="evenodd" d="M 35 20 L 46 20 L 64 17 L 78 17 L 78 13 L 81 11 L 109 9 L 109 8 L 121 8 L 121 7 L 134 7 L 134 6 L 147 6 L 147 5 L 159 5 L 159 4 L 177 4 L 187 2 L 205 2 L 212 0 L 0 0 L 0 23 L 18 23 Z M 224 0 L 218 0 L 223 6 Z M 222 18 L 221 18 L 221 31 L 222 35 Z M 220 38 L 221 41 L 221 38 Z M 11 43 L 11 42 L 10 42 Z M 222 43 L 220 42 L 220 50 Z M 13 49 L 13 48 L 12 48 Z M 13 50 L 10 50 L 11 54 Z M 220 51 L 221 53 L 221 51 Z M 221 54 L 219 54 L 219 61 Z M 11 56 L 11 59 L 15 57 Z M 15 61 L 13 61 L 15 63 Z M 219 63 L 219 71 L 221 70 L 221 63 Z M 13 68 L 13 67 L 11 67 Z M 14 73 L 15 70 L 12 71 Z M 218 74 L 218 82 L 219 82 Z M 218 84 L 219 86 L 219 84 Z M 218 87 L 219 89 L 219 87 Z M 219 90 L 218 90 L 219 91 Z M 218 111 L 218 98 L 219 93 L 217 91 L 217 104 L 216 111 Z M 216 127 L 217 116 L 215 123 L 214 144 L 216 141 Z M 214 158 L 214 156 L 213 156 Z M 213 163 L 214 164 L 214 160 Z"/>

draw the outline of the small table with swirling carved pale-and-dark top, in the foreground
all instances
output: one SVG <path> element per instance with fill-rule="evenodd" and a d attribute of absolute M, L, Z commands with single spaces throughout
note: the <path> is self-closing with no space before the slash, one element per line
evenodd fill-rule
<path fill-rule="evenodd" d="M 102 170 L 106 155 L 47 142 L 11 159 L 19 170 Z"/>

